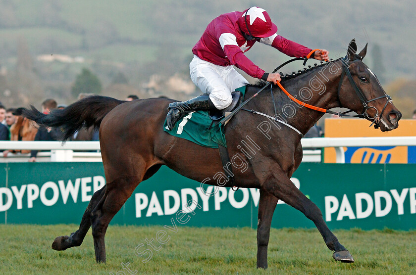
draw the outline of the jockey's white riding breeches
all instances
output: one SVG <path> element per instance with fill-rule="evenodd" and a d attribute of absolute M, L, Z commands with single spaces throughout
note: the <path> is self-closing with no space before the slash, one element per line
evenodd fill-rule
<path fill-rule="evenodd" d="M 231 91 L 249 83 L 232 66 L 215 65 L 196 55 L 189 68 L 191 80 L 202 92 L 209 94 L 209 99 L 218 110 L 231 104 Z"/>

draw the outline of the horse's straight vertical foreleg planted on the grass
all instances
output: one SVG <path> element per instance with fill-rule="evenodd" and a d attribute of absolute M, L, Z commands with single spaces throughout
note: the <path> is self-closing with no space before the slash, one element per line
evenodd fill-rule
<path fill-rule="evenodd" d="M 259 220 L 257 223 L 257 267 L 267 268 L 267 246 L 270 224 L 278 199 L 271 193 L 260 189 Z"/>

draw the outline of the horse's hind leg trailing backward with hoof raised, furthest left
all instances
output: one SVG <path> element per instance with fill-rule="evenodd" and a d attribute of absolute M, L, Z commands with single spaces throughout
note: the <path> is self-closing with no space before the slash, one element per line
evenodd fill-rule
<path fill-rule="evenodd" d="M 52 243 L 52 249 L 65 250 L 73 246 L 80 246 L 91 227 L 91 211 L 97 206 L 98 202 L 103 198 L 106 185 L 95 192 L 90 200 L 90 203 L 82 216 L 79 229 L 69 236 L 56 237 Z"/>

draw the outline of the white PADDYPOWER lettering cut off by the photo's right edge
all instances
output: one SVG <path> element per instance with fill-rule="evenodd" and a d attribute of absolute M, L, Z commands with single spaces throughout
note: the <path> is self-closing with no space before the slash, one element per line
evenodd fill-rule
<path fill-rule="evenodd" d="M 355 200 L 355 205 L 351 201 Z M 354 196 L 344 194 L 342 198 L 325 196 L 325 220 L 327 222 L 344 219 L 364 219 L 370 215 L 384 217 L 397 206 L 397 215 L 416 213 L 416 187 L 401 190 L 375 191 L 373 193 L 356 193 Z"/>

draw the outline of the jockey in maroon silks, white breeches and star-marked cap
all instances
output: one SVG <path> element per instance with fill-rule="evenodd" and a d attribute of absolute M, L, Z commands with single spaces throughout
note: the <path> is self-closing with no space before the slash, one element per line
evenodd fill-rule
<path fill-rule="evenodd" d="M 277 27 L 271 22 L 267 12 L 256 6 L 243 12 L 225 13 L 212 20 L 192 48 L 194 58 L 189 65 L 191 80 L 206 94 L 188 101 L 170 103 L 166 116 L 169 130 L 186 113 L 221 110 L 231 104 L 231 91 L 248 84 L 231 65 L 254 78 L 274 84 L 280 81 L 279 74 L 266 73 L 244 55 L 257 41 L 292 57 L 306 57 L 312 51 L 277 35 L 276 32 Z M 328 51 L 317 50 L 313 58 L 327 59 Z"/>

